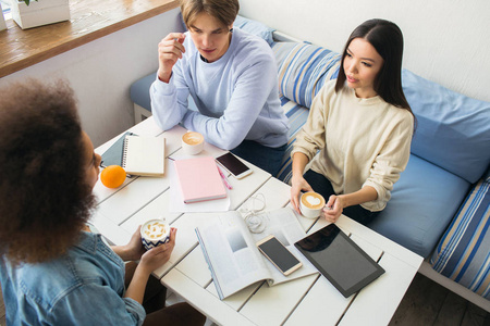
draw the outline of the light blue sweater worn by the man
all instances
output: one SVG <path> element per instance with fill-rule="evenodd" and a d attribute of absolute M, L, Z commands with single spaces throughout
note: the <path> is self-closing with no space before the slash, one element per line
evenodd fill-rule
<path fill-rule="evenodd" d="M 272 148 L 287 142 L 277 64 L 266 41 L 234 28 L 226 53 L 212 63 L 200 59 L 188 32 L 184 47 L 170 82 L 157 77 L 150 88 L 151 111 L 163 130 L 182 123 L 224 150 L 244 139 Z M 189 93 L 199 112 L 188 109 Z"/>

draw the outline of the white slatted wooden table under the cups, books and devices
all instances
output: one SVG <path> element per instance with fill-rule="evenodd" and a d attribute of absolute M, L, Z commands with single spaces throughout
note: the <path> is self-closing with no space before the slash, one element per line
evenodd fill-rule
<path fill-rule="evenodd" d="M 166 137 L 166 154 L 170 158 L 184 155 L 180 139 L 185 130 L 181 127 L 162 133 L 149 117 L 130 130 Z M 103 153 L 115 139 L 97 148 L 96 152 Z M 206 145 L 199 155 L 221 153 L 222 150 Z M 169 164 L 169 160 L 166 161 Z M 246 164 L 254 170 L 252 175 L 241 180 L 229 177 L 233 186 L 231 210 L 240 209 L 256 193 L 265 196 L 265 210 L 289 204 L 289 185 Z M 126 179 L 118 189 L 108 189 L 98 181 L 94 191 L 99 205 L 91 222 L 111 242 L 124 244 L 139 224 L 166 216 L 177 228 L 176 246 L 170 261 L 154 274 L 219 325 L 387 325 L 422 262 L 421 256 L 341 216 L 336 225 L 385 269 L 377 280 L 344 298 L 323 276 L 316 274 L 273 287 L 258 283 L 221 301 L 194 230 L 209 213 L 170 213 L 169 189 L 168 173 L 163 178 Z M 299 222 L 307 233 L 327 225 L 323 220 L 301 217 Z"/>

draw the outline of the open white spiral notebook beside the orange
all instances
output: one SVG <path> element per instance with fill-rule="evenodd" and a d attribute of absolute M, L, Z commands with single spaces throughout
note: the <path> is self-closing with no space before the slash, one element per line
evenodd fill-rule
<path fill-rule="evenodd" d="M 163 176 L 166 139 L 162 136 L 130 136 L 124 139 L 122 167 L 127 174 Z"/>

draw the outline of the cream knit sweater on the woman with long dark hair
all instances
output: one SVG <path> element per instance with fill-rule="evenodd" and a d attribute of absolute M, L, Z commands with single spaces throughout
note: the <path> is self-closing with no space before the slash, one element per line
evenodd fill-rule
<path fill-rule="evenodd" d="M 362 206 L 381 211 L 408 162 L 413 116 L 379 96 L 359 99 L 347 86 L 339 93 L 334 88 L 330 80 L 316 96 L 292 155 L 302 152 L 313 160 L 311 170 L 324 175 L 338 195 L 373 187 L 378 199 Z"/>

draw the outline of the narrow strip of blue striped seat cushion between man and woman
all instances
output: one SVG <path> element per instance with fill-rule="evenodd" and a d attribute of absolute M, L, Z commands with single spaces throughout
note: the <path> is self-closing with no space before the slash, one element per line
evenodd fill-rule
<path fill-rule="evenodd" d="M 297 131 L 299 131 L 303 124 L 308 118 L 309 110 L 305 106 L 296 104 L 293 101 L 290 101 L 283 96 L 281 97 L 281 106 L 284 114 L 287 116 L 287 121 L 290 122 L 290 133 L 287 135 L 287 148 L 282 159 L 281 168 L 277 175 L 277 178 L 289 184 L 292 177 L 291 151 L 293 150 L 293 143 L 296 140 Z"/>

